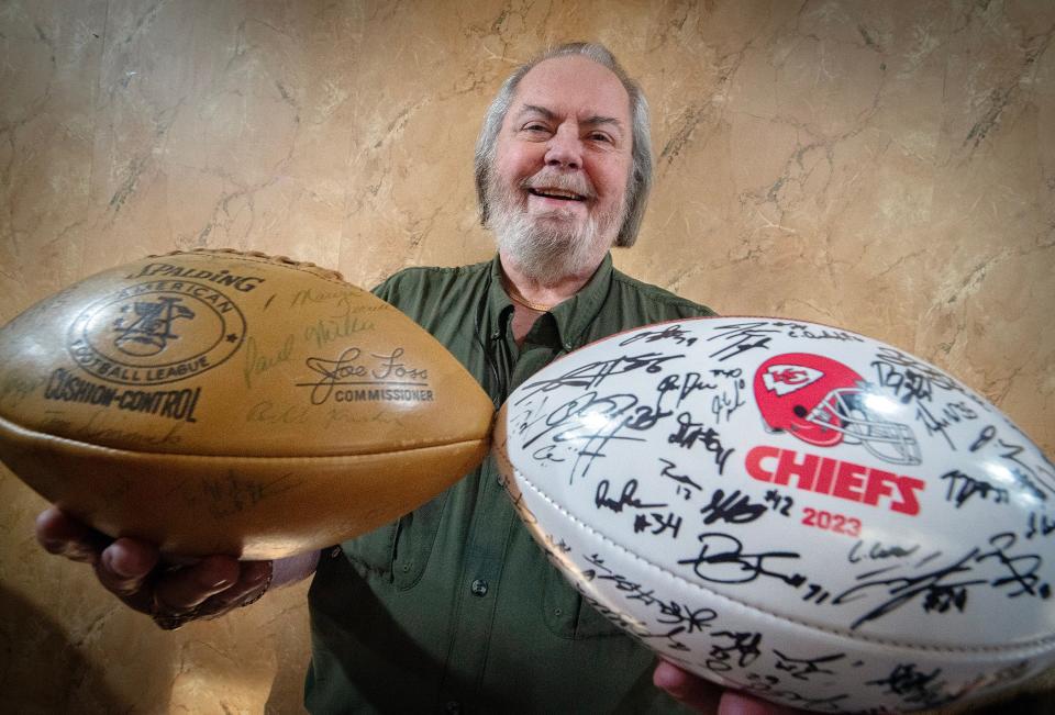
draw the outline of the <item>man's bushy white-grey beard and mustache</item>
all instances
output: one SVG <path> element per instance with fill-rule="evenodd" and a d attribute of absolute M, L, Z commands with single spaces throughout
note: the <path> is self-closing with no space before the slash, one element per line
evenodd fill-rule
<path fill-rule="evenodd" d="M 499 252 L 530 280 L 554 283 L 591 273 L 615 241 L 624 210 L 590 216 L 579 227 L 570 211 L 532 216 L 521 194 L 503 191 L 492 178 L 488 186 L 489 225 Z"/>

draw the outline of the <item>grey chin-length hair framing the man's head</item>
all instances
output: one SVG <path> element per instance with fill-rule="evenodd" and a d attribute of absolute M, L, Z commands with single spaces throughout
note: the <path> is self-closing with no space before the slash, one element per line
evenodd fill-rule
<path fill-rule="evenodd" d="M 484 126 L 480 127 L 480 135 L 476 139 L 476 198 L 480 206 L 480 223 L 487 224 L 491 215 L 487 185 L 495 166 L 498 134 L 502 129 L 502 122 L 506 120 L 506 113 L 513 101 L 513 94 L 517 93 L 520 80 L 538 63 L 568 55 L 581 55 L 607 67 L 619 78 L 630 96 L 633 168 L 626 180 L 626 215 L 623 219 L 623 225 L 619 228 L 619 235 L 615 237 L 615 245 L 633 246 L 634 242 L 637 241 L 637 231 L 645 215 L 648 191 L 652 189 L 652 139 L 648 136 L 648 102 L 645 100 L 641 87 L 630 78 L 615 56 L 604 45 L 596 43 L 574 42 L 551 47 L 518 67 L 498 90 L 491 105 L 487 108 L 487 113 L 484 115 Z"/>

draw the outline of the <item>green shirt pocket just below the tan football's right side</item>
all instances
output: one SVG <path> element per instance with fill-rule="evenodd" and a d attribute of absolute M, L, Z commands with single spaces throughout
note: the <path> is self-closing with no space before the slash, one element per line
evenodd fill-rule
<path fill-rule="evenodd" d="M 391 524 L 341 545 L 364 578 L 388 581 L 397 589 L 413 588 L 425 572 L 436 543 L 448 492 Z"/>

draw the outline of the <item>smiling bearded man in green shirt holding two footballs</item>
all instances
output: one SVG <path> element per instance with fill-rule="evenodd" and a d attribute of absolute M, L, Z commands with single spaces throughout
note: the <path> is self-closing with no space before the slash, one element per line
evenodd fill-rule
<path fill-rule="evenodd" d="M 499 405 L 569 350 L 710 311 L 612 268 L 634 243 L 652 181 L 645 99 L 599 45 L 552 49 L 502 86 L 477 144 L 498 256 L 412 268 L 378 295 L 432 332 Z M 364 537 L 282 561 L 207 558 L 160 569 L 148 544 L 49 510 L 38 537 L 163 627 L 215 616 L 314 573 L 312 711 L 713 711 L 720 693 L 655 658 L 584 604 L 509 504 L 493 462 Z M 658 685 L 657 689 L 655 685 Z M 763 712 L 726 693 L 723 712 Z"/>

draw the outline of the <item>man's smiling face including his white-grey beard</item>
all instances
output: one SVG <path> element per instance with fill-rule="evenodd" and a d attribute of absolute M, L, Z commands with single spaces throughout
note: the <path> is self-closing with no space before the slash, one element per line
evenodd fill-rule
<path fill-rule="evenodd" d="M 630 98 L 581 56 L 540 63 L 517 88 L 488 194 L 503 257 L 541 278 L 592 270 L 625 214 Z"/>

